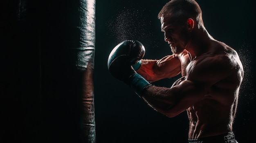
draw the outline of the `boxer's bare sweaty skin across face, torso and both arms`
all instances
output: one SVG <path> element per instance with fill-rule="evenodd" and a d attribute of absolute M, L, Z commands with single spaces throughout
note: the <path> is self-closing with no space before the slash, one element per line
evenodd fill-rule
<path fill-rule="evenodd" d="M 148 81 L 179 74 L 182 78 L 170 88 L 150 86 L 144 90 L 143 99 L 168 117 L 187 111 L 189 139 L 232 131 L 243 80 L 238 54 L 214 40 L 203 24 L 194 26 L 198 23 L 188 19 L 182 25 L 170 19 L 171 15 L 161 18 L 161 29 L 173 55 L 159 60 L 142 59 L 136 72 Z"/>

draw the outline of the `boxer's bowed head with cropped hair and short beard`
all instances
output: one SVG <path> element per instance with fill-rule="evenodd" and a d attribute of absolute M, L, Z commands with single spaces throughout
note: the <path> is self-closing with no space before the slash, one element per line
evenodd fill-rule
<path fill-rule="evenodd" d="M 173 53 L 181 53 L 191 39 L 191 31 L 203 26 L 202 11 L 195 0 L 171 0 L 158 14 L 165 41 Z"/>

